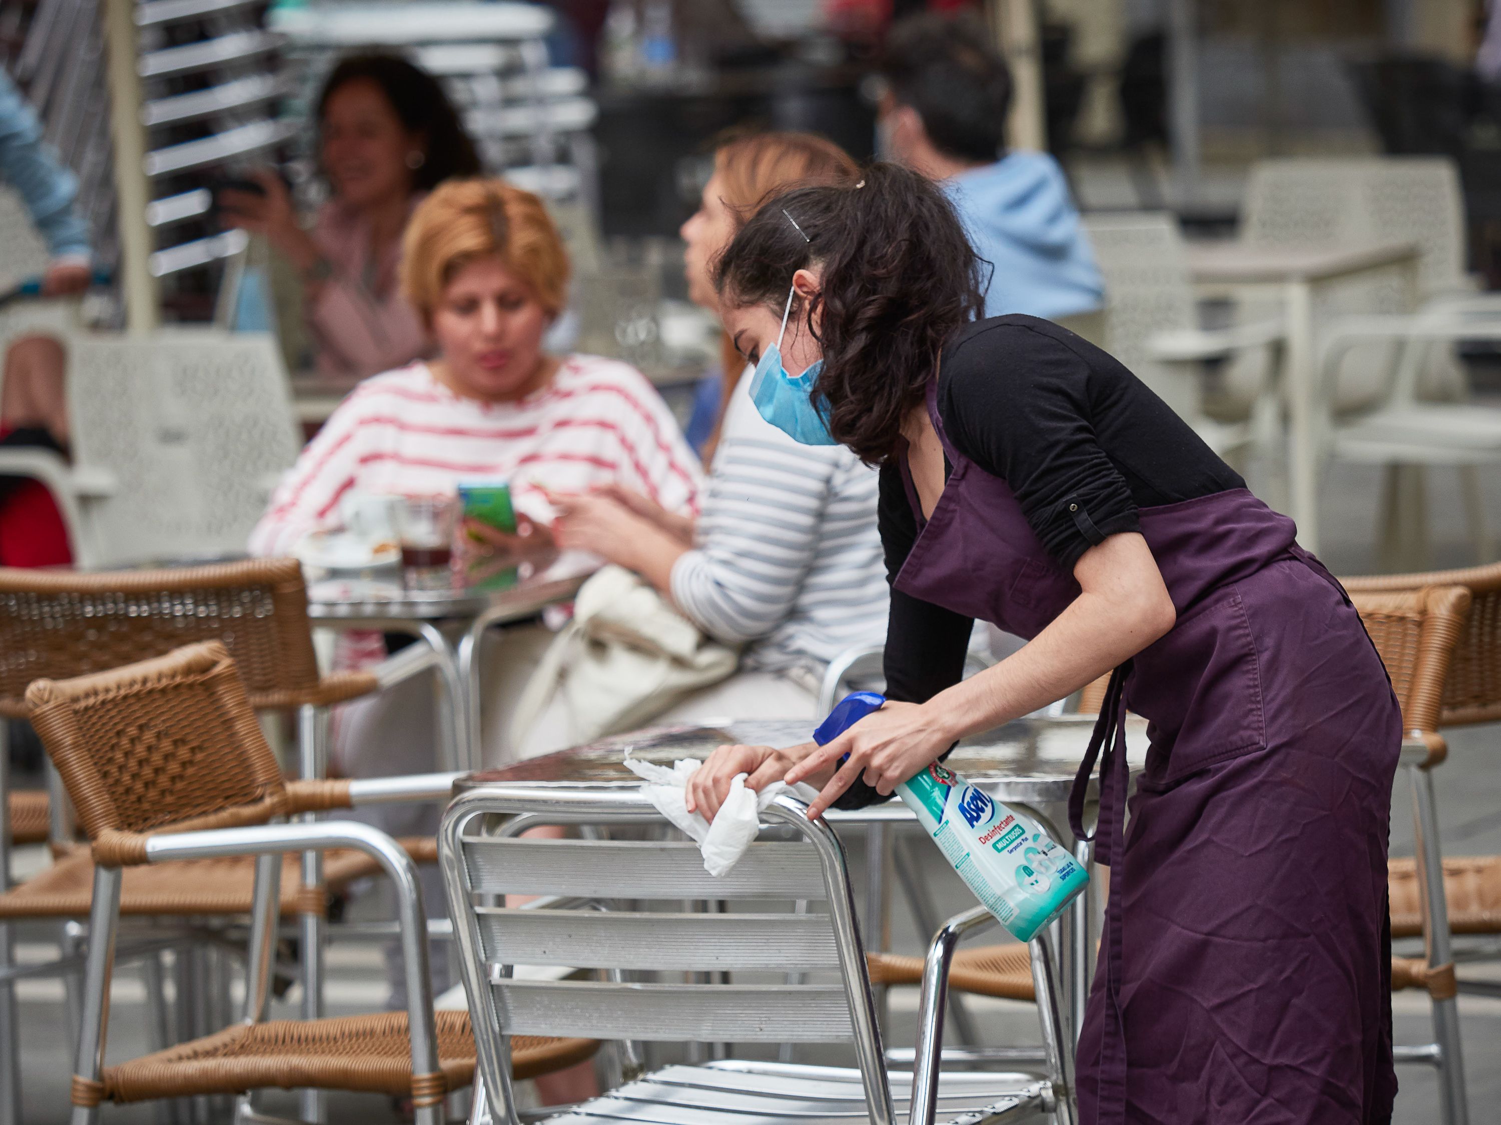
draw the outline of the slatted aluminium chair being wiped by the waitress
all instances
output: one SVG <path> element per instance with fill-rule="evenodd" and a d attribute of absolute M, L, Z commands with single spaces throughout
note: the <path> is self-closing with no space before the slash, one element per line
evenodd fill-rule
<path fill-rule="evenodd" d="M 892 1072 L 839 837 L 827 822 L 808 820 L 805 806 L 788 796 L 763 816 L 793 840 L 752 843 L 734 870 L 714 879 L 692 843 L 519 836 L 540 824 L 665 824 L 633 790 L 507 784 L 455 798 L 438 856 L 479 1052 L 473 1122 L 521 1120 L 509 1059 L 516 1038 L 528 1034 L 615 1040 L 630 1062 L 621 1084 L 546 1119 L 557 1125 L 766 1125 L 794 1118 L 889 1125 L 898 1110 L 914 1125 L 935 1118 L 998 1124 L 1049 1112 L 1058 1122 L 1073 1120 L 1072 1050 L 1061 1036 L 1043 940 L 1033 950 L 1049 1044 L 1045 1076 L 938 1070 L 949 957 L 965 930 L 994 924 L 983 909 L 953 920 L 929 952 L 917 1065 Z M 509 819 L 486 831 L 494 818 Z M 492 904 L 506 892 L 582 904 Z M 826 912 L 794 912 L 788 900 L 823 903 Z M 516 963 L 578 966 L 599 978 L 518 980 Z M 853 1046 L 854 1066 L 729 1058 L 636 1077 L 644 1042 L 844 1042 Z"/>

